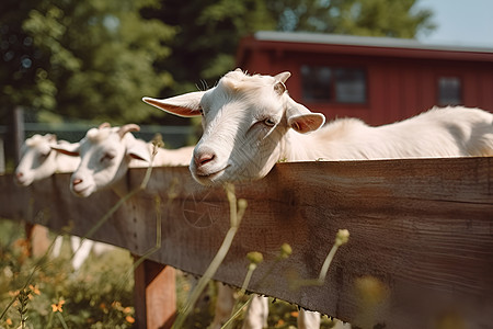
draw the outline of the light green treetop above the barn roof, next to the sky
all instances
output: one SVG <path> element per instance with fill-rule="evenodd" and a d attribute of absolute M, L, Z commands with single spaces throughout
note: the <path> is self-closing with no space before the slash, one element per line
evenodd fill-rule
<path fill-rule="evenodd" d="M 413 38 L 435 29 L 416 0 L 267 0 L 279 31 Z"/>

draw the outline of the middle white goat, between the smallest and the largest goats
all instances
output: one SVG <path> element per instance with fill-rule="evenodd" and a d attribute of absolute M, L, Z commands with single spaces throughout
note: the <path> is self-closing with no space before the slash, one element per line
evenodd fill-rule
<path fill-rule="evenodd" d="M 118 195 L 125 192 L 123 177 L 128 168 L 148 167 L 151 161 L 153 145 L 137 139 L 130 132 L 140 127 L 128 124 L 111 127 L 102 124 L 91 128 L 79 143 L 54 147 L 69 156 L 80 156 L 81 162 L 70 179 L 70 190 L 77 196 L 88 197 L 92 193 L 112 188 Z M 187 164 L 192 158 L 193 147 L 180 149 L 158 148 L 153 166 Z"/>

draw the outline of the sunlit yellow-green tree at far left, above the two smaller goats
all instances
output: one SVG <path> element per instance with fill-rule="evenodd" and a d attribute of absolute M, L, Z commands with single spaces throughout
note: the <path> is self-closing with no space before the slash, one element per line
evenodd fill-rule
<path fill-rule="evenodd" d="M 142 94 L 172 82 L 153 64 L 174 29 L 145 20 L 153 0 L 5 0 L 0 4 L 0 115 L 14 106 L 95 122 L 139 122 Z"/>

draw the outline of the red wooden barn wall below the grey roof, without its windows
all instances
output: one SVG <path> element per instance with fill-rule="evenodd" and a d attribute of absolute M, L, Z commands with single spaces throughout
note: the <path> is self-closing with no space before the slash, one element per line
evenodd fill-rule
<path fill-rule="evenodd" d="M 457 76 L 462 80 L 463 105 L 493 112 L 493 61 L 488 57 L 457 52 L 420 49 L 383 49 L 359 46 L 255 43 L 248 56 L 239 56 L 239 67 L 249 72 L 276 75 L 290 71 L 287 82 L 290 95 L 310 110 L 326 117 L 359 117 L 381 125 L 416 115 L 438 104 L 438 78 Z M 357 47 L 356 47 L 357 48 Z M 365 52 L 367 48 L 367 53 Z M 408 52 L 408 53 L 406 53 Z M 390 56 L 392 55 L 392 56 Z M 367 104 L 310 103 L 302 99 L 300 67 L 362 67 L 367 70 Z"/>

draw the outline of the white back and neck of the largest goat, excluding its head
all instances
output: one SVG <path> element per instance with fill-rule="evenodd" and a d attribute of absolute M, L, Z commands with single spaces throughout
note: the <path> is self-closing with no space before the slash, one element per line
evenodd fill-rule
<path fill-rule="evenodd" d="M 493 156 L 493 115 L 461 106 L 378 127 L 340 118 L 309 135 L 289 131 L 282 150 L 287 161 L 473 156 Z"/>

